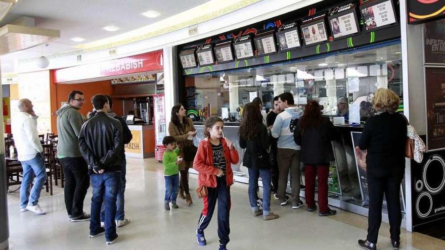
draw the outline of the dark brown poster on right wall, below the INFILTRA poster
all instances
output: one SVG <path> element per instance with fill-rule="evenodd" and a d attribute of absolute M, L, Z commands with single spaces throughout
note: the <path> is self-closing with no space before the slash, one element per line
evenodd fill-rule
<path fill-rule="evenodd" d="M 427 151 L 445 148 L 445 67 L 425 68 Z"/>

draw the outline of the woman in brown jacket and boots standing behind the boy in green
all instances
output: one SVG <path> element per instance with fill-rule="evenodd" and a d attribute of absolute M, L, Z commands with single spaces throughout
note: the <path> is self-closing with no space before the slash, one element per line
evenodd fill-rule
<path fill-rule="evenodd" d="M 193 137 L 196 136 L 196 129 L 190 118 L 186 117 L 186 109 L 182 104 L 177 104 L 171 108 L 171 121 L 168 124 L 168 133 L 176 140 L 177 146 L 180 148 L 180 155 L 183 156 L 183 163 L 179 165 L 180 171 L 180 187 L 179 196 L 186 199 L 187 204 L 193 204 L 189 190 L 188 173 L 189 168 L 193 167 L 193 159 L 195 158 L 196 148 L 193 144 Z M 184 195 L 184 192 L 186 193 Z"/>

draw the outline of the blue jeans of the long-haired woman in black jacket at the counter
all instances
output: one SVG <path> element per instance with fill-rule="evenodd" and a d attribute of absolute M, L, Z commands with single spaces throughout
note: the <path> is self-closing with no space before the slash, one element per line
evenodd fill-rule
<path fill-rule="evenodd" d="M 249 171 L 249 202 L 252 211 L 258 211 L 258 205 L 256 203 L 258 190 L 258 178 L 261 176 L 262 180 L 262 211 L 263 215 L 269 215 L 271 213 L 271 170 L 270 169 L 252 169 Z"/>

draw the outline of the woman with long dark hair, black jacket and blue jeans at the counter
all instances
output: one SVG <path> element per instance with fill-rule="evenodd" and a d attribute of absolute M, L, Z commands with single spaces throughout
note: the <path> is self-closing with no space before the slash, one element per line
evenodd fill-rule
<path fill-rule="evenodd" d="M 243 110 L 243 120 L 239 129 L 240 146 L 246 148 L 243 165 L 249 171 L 249 202 L 254 216 L 262 215 L 264 220 L 277 219 L 271 213 L 271 164 L 269 162 L 270 146 L 268 129 L 262 124 L 261 112 L 256 103 L 248 103 Z M 258 177 L 261 176 L 263 192 L 263 210 L 256 202 Z"/>

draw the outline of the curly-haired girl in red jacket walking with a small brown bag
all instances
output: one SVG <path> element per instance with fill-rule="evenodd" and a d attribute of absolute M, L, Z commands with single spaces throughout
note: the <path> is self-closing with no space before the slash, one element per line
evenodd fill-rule
<path fill-rule="evenodd" d="M 205 121 L 204 136 L 198 146 L 194 168 L 198 171 L 198 186 L 206 186 L 208 195 L 203 198 L 204 209 L 198 221 L 196 236 L 200 245 L 206 245 L 204 229 L 207 228 L 218 201 L 219 249 L 226 250 L 229 243 L 230 186 L 233 184 L 231 164 L 237 164 L 238 152 L 232 141 L 222 137 L 224 123 L 217 116 Z"/>

